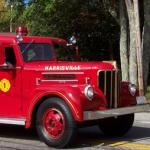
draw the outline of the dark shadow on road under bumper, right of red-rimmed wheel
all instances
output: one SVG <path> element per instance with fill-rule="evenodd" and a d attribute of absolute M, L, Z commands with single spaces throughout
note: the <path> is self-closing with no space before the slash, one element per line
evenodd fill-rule
<path fill-rule="evenodd" d="M 123 137 L 108 137 L 98 127 L 90 127 L 80 129 L 77 139 L 75 148 L 98 145 L 109 146 L 118 142 L 135 143 L 150 140 L 150 128 L 133 126 Z"/>

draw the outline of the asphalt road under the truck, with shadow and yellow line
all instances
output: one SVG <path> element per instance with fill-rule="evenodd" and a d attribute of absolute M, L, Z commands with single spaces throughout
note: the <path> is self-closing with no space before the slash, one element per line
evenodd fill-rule
<path fill-rule="evenodd" d="M 53 150 L 40 142 L 35 131 L 0 125 L 0 150 Z M 150 150 L 150 113 L 139 113 L 131 131 L 108 138 L 97 127 L 80 129 L 72 150 Z"/>

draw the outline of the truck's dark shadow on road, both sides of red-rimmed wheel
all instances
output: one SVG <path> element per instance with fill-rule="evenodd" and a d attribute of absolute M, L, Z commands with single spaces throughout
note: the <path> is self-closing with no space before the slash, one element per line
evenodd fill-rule
<path fill-rule="evenodd" d="M 36 130 L 26 130 L 20 126 L 0 125 L 0 137 L 8 139 L 22 139 L 38 141 Z M 108 146 L 116 142 L 138 142 L 150 139 L 150 128 L 134 126 L 128 134 L 121 138 L 106 137 L 98 127 L 79 129 L 73 149 L 86 148 L 91 146 Z"/>

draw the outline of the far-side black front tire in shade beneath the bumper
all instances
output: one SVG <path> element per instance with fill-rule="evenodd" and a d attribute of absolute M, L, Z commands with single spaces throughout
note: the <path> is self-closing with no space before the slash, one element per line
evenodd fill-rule
<path fill-rule="evenodd" d="M 107 136 L 123 136 L 132 127 L 134 114 L 119 116 L 117 118 L 102 119 L 99 128 Z"/>

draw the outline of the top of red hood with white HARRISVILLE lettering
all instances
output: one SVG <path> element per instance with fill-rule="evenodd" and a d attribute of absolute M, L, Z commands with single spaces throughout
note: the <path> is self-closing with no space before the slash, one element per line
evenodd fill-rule
<path fill-rule="evenodd" d="M 114 62 L 69 62 L 49 61 L 30 62 L 26 68 L 37 71 L 86 71 L 86 70 L 113 70 Z"/>

